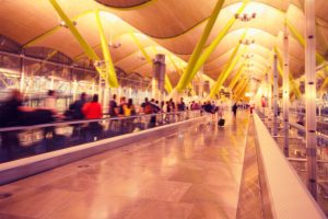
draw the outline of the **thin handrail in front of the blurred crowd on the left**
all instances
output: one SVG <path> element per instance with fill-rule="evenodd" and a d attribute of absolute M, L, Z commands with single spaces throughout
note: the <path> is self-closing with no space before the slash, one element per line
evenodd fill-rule
<path fill-rule="evenodd" d="M 200 111 L 188 111 L 189 113 L 200 113 Z M 26 130 L 26 129 L 38 129 L 38 128 L 46 128 L 46 127 L 54 127 L 54 126 L 68 126 L 68 125 L 77 125 L 77 124 L 85 124 L 85 123 L 93 123 L 93 122 L 104 122 L 104 120 L 125 120 L 129 118 L 142 118 L 142 117 L 151 117 L 151 116 L 164 116 L 164 115 L 181 115 L 187 113 L 184 112 L 174 112 L 174 113 L 157 113 L 157 114 L 139 114 L 134 116 L 118 116 L 118 117 L 104 117 L 99 119 L 80 119 L 80 120 L 69 120 L 69 122 L 54 122 L 48 124 L 42 125 L 32 125 L 32 126 L 14 126 L 8 128 L 0 128 L 0 132 L 3 131 L 13 131 L 13 130 Z"/>

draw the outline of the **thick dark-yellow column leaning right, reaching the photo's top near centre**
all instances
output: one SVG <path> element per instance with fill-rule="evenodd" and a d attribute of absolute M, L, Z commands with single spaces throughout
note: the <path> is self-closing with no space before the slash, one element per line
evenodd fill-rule
<path fill-rule="evenodd" d="M 186 70 L 184 71 L 184 73 L 176 87 L 176 90 L 178 92 L 181 92 L 186 88 L 186 85 L 190 82 L 190 77 L 191 77 L 192 70 L 195 68 L 195 65 L 196 65 L 197 60 L 199 59 L 199 56 L 210 36 L 210 33 L 212 31 L 212 27 L 216 21 L 216 18 L 221 11 L 223 3 L 224 3 L 224 0 L 218 0 L 215 7 L 213 9 L 213 12 L 204 27 L 201 38 L 199 39 L 198 44 L 196 45 L 196 48 L 192 51 L 192 55 L 188 62 L 188 66 L 187 66 Z"/>

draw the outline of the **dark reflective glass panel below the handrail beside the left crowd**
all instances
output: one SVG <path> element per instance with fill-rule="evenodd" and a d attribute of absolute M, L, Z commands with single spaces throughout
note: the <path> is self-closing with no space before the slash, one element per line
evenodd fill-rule
<path fill-rule="evenodd" d="M 201 116 L 199 111 L 0 128 L 0 162 L 137 132 Z"/>

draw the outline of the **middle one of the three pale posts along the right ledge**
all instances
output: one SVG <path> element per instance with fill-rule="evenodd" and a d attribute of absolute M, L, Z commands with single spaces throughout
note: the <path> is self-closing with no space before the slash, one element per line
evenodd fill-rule
<path fill-rule="evenodd" d="M 289 59 L 289 35 L 286 27 L 283 36 L 283 152 L 284 155 L 289 157 L 289 130 L 290 130 L 290 59 Z"/>

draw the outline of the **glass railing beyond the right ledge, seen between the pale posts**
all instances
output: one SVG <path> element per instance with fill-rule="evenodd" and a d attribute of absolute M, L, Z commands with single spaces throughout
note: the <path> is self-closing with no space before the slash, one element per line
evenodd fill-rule
<path fill-rule="evenodd" d="M 273 114 L 268 112 L 266 115 L 262 111 L 257 111 L 257 114 L 272 135 L 273 130 Z M 303 120 L 300 120 L 300 115 Z M 284 134 L 283 134 L 283 118 L 278 117 L 278 136 L 273 137 L 279 148 L 283 152 Z M 300 112 L 290 112 L 290 129 L 289 129 L 289 162 L 297 172 L 300 178 L 306 185 L 307 182 L 307 157 L 306 157 L 306 129 L 305 129 L 305 114 Z M 317 188 L 318 188 L 318 204 L 321 209 L 328 215 L 328 123 L 323 122 L 325 116 L 317 116 Z M 302 122 L 302 123 L 300 123 Z"/>

